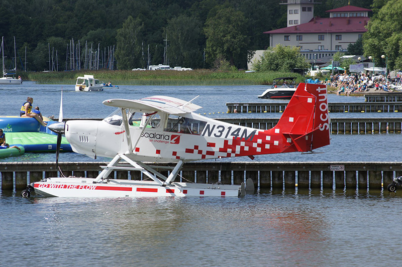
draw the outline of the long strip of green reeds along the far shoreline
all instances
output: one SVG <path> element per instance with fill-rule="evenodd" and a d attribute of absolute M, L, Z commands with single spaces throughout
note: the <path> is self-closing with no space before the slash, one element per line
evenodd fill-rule
<path fill-rule="evenodd" d="M 93 75 L 95 79 L 115 85 L 263 85 L 272 84 L 277 77 L 297 77 L 296 82 L 303 82 L 305 77 L 289 72 L 252 72 L 213 71 L 197 69 L 190 71 L 155 70 L 155 71 L 63 71 L 29 72 L 27 77 L 40 84 L 75 84 L 78 76 Z"/>

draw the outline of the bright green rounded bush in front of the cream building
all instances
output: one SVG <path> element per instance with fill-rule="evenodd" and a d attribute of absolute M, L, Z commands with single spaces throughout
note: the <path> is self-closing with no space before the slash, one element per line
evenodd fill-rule
<path fill-rule="evenodd" d="M 293 69 L 306 69 L 309 63 L 299 53 L 295 46 L 269 47 L 261 60 L 253 63 L 253 69 L 258 71 L 292 71 Z"/>

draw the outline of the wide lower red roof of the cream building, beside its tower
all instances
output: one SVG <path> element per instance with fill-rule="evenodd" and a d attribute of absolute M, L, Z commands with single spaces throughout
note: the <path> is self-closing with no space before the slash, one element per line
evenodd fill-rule
<path fill-rule="evenodd" d="M 369 17 L 315 18 L 308 23 L 276 29 L 264 34 L 365 33 L 367 29 L 364 26 L 369 20 Z"/>

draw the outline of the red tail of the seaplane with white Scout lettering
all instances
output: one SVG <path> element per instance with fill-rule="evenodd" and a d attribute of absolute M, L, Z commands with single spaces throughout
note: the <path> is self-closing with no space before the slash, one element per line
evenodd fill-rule
<path fill-rule="evenodd" d="M 292 145 L 283 152 L 311 151 L 329 145 L 326 85 L 300 83 L 274 129 L 291 140 Z"/>

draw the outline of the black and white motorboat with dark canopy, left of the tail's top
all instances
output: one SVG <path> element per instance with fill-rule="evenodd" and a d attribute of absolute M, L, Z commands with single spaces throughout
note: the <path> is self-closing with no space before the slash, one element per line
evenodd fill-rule
<path fill-rule="evenodd" d="M 296 77 L 279 77 L 273 79 L 272 87 L 266 89 L 258 98 L 290 99 L 296 91 Z"/>

